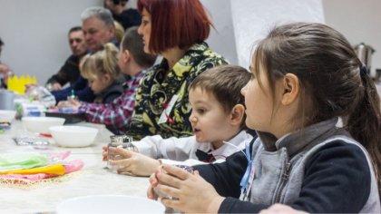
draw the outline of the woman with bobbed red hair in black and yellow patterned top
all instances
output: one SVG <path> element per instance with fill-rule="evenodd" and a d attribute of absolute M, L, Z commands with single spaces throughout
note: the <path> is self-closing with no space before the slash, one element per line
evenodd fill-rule
<path fill-rule="evenodd" d="M 128 131 L 134 141 L 192 135 L 188 86 L 205 70 L 228 63 L 210 51 L 210 17 L 199 0 L 138 0 L 144 52 L 163 59 L 143 77 Z"/>

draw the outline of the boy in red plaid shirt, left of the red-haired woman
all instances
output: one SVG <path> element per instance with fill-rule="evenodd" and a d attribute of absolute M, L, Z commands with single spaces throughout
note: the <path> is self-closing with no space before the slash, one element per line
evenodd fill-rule
<path fill-rule="evenodd" d="M 79 111 L 84 112 L 88 122 L 102 123 L 114 134 L 126 131 L 135 107 L 135 94 L 139 83 L 156 60 L 156 56 L 144 53 L 142 36 L 137 27 L 129 28 L 123 36 L 119 53 L 121 72 L 128 75 L 123 83 L 124 93 L 110 103 L 81 102 Z"/>

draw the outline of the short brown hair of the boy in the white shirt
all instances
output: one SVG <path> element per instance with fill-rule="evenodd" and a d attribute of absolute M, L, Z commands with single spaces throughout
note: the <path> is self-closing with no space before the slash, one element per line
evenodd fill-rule
<path fill-rule="evenodd" d="M 210 92 L 220 102 L 225 112 L 230 112 L 235 105 L 245 105 L 245 98 L 240 90 L 249 82 L 250 73 L 239 65 L 220 65 L 200 73 L 190 83 L 189 91 L 200 87 Z M 245 119 L 245 118 L 244 118 Z M 243 126 L 245 120 L 242 120 Z"/>

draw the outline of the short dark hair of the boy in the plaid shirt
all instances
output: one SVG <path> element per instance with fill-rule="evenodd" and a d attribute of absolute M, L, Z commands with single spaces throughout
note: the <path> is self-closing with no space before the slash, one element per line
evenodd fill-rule
<path fill-rule="evenodd" d="M 138 26 L 127 28 L 122 39 L 122 50 L 128 50 L 136 63 L 143 67 L 151 67 L 156 61 L 156 56 L 144 53 L 142 35 L 138 34 Z"/>

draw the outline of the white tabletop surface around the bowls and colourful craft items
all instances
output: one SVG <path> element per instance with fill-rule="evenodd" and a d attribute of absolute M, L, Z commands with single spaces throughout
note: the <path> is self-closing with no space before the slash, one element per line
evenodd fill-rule
<path fill-rule="evenodd" d="M 15 151 L 56 153 L 69 150 L 72 153 L 67 160 L 84 162 L 82 170 L 74 172 L 68 180 L 59 183 L 48 183 L 24 190 L 0 186 L 0 213 L 54 212 L 57 204 L 65 199 L 87 195 L 118 194 L 145 197 L 149 185 L 148 178 L 119 175 L 104 169 L 106 163 L 102 161 L 102 146 L 107 143 L 112 133 L 103 125 L 88 122 L 75 125 L 92 126 L 100 130 L 90 147 L 60 148 L 52 143 L 47 150 L 36 150 L 33 146 L 17 146 L 12 138 L 23 130 L 19 121 L 12 123 L 11 130 L 0 134 L 1 153 Z"/>

